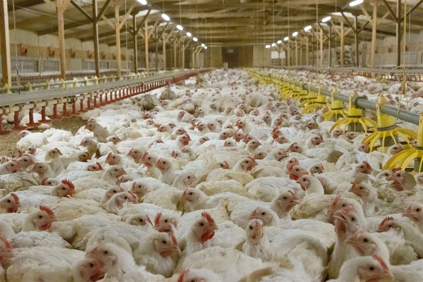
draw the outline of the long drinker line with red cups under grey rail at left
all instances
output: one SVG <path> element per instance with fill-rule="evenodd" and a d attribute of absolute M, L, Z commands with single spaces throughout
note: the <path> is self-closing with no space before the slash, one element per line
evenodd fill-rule
<path fill-rule="evenodd" d="M 2 120 L 3 115 L 14 113 L 14 127 L 12 127 L 12 130 L 20 131 L 27 129 L 29 126 L 38 126 L 38 123 L 50 123 L 52 120 L 79 115 L 82 112 L 165 87 L 166 85 L 174 84 L 210 70 L 210 68 L 204 68 L 199 71 L 180 71 L 174 74 L 106 82 L 77 88 L 58 88 L 2 95 L 2 99 L 0 99 L 0 120 Z M 85 108 L 84 100 L 87 106 Z M 76 101 L 80 101 L 79 111 L 76 109 Z M 72 104 L 71 112 L 67 110 L 67 104 L 69 103 Z M 58 104 L 63 104 L 62 115 L 58 113 Z M 46 107 L 50 105 L 53 106 L 53 115 L 47 120 Z M 41 120 L 37 120 L 34 123 L 33 109 L 38 107 L 41 107 Z M 27 123 L 27 126 L 19 125 L 19 112 L 22 110 L 30 110 L 30 122 Z M 10 130 L 3 130 L 3 125 L 0 123 L 0 135 L 6 135 L 10 132 Z"/>

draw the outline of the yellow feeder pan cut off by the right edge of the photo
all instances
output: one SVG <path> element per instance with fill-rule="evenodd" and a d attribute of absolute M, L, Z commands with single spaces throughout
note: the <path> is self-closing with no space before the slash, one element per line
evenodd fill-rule
<path fill-rule="evenodd" d="M 419 118 L 419 128 L 417 131 L 417 145 L 414 148 L 412 145 L 405 145 L 404 151 L 393 155 L 385 164 L 382 170 L 391 170 L 396 167 L 401 167 L 405 170 L 410 162 L 414 159 L 414 169 L 418 172 L 422 171 L 423 164 L 423 115 Z"/>

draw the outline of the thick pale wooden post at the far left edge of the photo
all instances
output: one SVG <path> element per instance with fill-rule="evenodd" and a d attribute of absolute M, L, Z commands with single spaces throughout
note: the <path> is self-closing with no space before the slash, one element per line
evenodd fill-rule
<path fill-rule="evenodd" d="M 12 86 L 12 74 L 10 66 L 10 41 L 9 41 L 9 17 L 7 11 L 7 1 L 0 4 L 0 41 L 1 41 L 1 67 L 3 71 L 3 86 Z M 15 42 L 15 44 L 17 44 Z M 0 120 L 1 122 L 1 120 Z"/>

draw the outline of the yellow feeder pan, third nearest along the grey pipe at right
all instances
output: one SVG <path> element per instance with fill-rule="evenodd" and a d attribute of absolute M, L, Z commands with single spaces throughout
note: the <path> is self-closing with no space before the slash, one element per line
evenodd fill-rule
<path fill-rule="evenodd" d="M 348 103 L 346 118 L 345 117 L 341 118 L 337 122 L 335 122 L 332 128 L 330 129 L 330 132 L 332 132 L 332 130 L 334 130 L 335 128 L 340 128 L 342 125 L 344 125 L 344 133 L 345 133 L 349 124 L 354 125 L 354 131 L 357 132 L 355 130 L 355 125 L 359 123 L 363 127 L 364 132 L 367 134 L 368 128 L 377 126 L 376 121 L 365 118 L 363 116 L 363 113 L 361 112 L 361 109 L 357 109 L 355 107 L 355 105 L 352 103 L 353 97 L 358 97 L 357 91 L 355 90 L 352 93 L 352 95 L 349 96 L 349 103 Z"/>

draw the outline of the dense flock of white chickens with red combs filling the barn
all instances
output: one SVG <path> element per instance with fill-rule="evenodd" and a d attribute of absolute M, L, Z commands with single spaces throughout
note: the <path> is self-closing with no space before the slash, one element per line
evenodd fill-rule
<path fill-rule="evenodd" d="M 0 156 L 0 281 L 423 281 L 423 173 L 381 170 L 404 146 L 369 153 L 322 111 L 215 70 L 77 134 L 20 132 Z"/>

